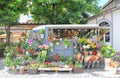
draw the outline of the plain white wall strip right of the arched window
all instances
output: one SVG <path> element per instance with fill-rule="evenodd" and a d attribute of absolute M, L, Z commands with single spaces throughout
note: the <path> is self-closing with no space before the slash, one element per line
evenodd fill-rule
<path fill-rule="evenodd" d="M 120 9 L 113 12 L 113 47 L 120 52 Z"/>

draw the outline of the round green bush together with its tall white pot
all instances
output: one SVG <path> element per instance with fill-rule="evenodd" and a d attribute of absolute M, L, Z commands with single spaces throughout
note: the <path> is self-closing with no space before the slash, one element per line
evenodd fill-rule
<path fill-rule="evenodd" d="M 103 57 L 105 58 L 105 70 L 108 70 L 109 66 L 108 63 L 111 61 L 111 57 L 115 55 L 115 50 L 112 48 L 112 46 L 103 45 L 101 48 L 101 53 Z"/>

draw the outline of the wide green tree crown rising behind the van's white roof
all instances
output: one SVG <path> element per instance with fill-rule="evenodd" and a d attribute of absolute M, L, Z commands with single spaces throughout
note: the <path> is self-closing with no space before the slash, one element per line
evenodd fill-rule
<path fill-rule="evenodd" d="M 31 14 L 45 24 L 86 23 L 87 18 L 100 12 L 98 0 L 32 0 Z"/>

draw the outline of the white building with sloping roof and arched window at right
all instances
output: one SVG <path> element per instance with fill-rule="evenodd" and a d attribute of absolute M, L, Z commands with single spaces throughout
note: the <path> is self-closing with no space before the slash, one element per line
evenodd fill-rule
<path fill-rule="evenodd" d="M 100 28 L 107 29 L 106 44 L 120 52 L 120 0 L 109 0 L 103 6 L 102 13 L 90 17 L 88 24 L 98 24 Z"/>

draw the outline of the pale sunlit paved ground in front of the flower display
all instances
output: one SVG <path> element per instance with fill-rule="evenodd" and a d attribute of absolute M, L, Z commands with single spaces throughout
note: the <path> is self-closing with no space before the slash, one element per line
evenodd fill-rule
<path fill-rule="evenodd" d="M 120 75 L 105 75 L 106 72 L 100 70 L 84 70 L 83 73 L 74 74 L 68 72 L 47 72 L 30 75 L 25 73 L 20 75 L 19 72 L 8 72 L 4 70 L 4 59 L 0 59 L 0 78 L 120 78 Z"/>

